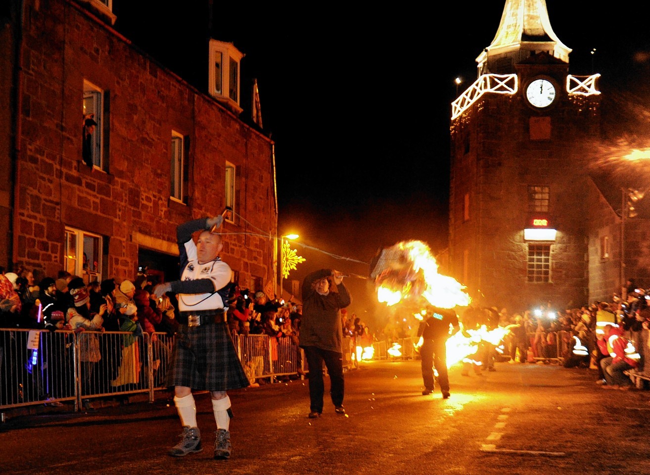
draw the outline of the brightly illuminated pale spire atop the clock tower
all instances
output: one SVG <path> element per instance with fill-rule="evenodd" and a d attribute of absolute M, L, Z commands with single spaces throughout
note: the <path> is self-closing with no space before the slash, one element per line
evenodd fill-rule
<path fill-rule="evenodd" d="M 508 74 L 515 64 L 544 51 L 569 63 L 571 49 L 553 32 L 545 0 L 506 0 L 499 29 L 476 63 L 478 76 Z"/>

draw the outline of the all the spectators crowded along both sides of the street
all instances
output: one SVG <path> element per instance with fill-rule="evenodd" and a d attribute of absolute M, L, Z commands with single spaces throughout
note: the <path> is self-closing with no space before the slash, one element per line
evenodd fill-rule
<path fill-rule="evenodd" d="M 122 331 L 133 335 L 122 342 L 122 365 L 114 375 L 113 385 L 121 386 L 138 381 L 140 361 L 133 342 L 148 333 L 157 352 L 168 352 L 168 346 L 157 342 L 154 333 L 174 335 L 177 329 L 175 313 L 177 300 L 172 292 L 155 298 L 158 285 L 155 277 L 138 275 L 133 281 L 115 279 L 85 283 L 81 277 L 61 270 L 57 276 L 44 276 L 38 270 L 19 268 L 16 272 L 4 272 L 0 268 L 0 328 L 70 329 L 75 332 Z M 629 342 L 637 348 L 642 342 L 643 329 L 650 327 L 650 295 L 642 289 L 631 289 L 629 296 L 621 300 L 616 296 L 612 302 L 593 302 L 579 308 L 556 311 L 551 305 L 510 313 L 506 308 L 478 307 L 471 303 L 460 313 L 464 329 L 476 329 L 485 325 L 487 330 L 508 327 L 510 331 L 502 340 L 502 361 L 511 363 L 548 364 L 553 360 L 565 366 L 580 366 L 598 370 L 597 382 L 603 387 L 623 387 L 621 378 L 617 384 L 608 384 L 608 371 L 612 366 L 612 347 L 606 342 L 617 333 L 620 342 Z M 288 339 L 298 350 L 298 335 L 302 305 L 270 299 L 265 292 L 250 292 L 233 284 L 227 323 L 233 337 L 238 335 L 267 335 L 271 341 Z M 413 337 L 417 329 L 408 318 L 397 318 L 385 326 L 379 335 L 370 331 L 354 313 L 341 311 L 343 335 L 354 339 L 356 346 L 372 346 L 376 341 L 396 342 Z M 612 324 L 618 330 L 608 329 L 604 337 L 603 326 Z M 600 344 L 599 344 L 600 342 Z M 577 352 L 584 346 L 584 352 Z M 130 349 L 129 349 L 130 348 Z M 611 351 L 610 351 L 611 350 Z M 300 351 L 296 351 L 300 355 Z M 640 352 L 643 356 L 643 351 Z M 498 355 L 495 355 L 498 356 Z M 85 339 L 85 351 L 81 361 L 87 365 L 85 374 L 90 377 L 92 365 L 101 357 L 98 342 Z M 605 361 L 604 359 L 610 358 Z M 623 355 L 623 359 L 626 355 Z M 643 369 L 643 359 L 629 362 L 625 369 Z M 129 366 L 124 366 L 124 362 Z M 614 357 L 613 363 L 618 363 Z M 614 367 L 625 366 L 622 363 Z M 298 361 L 298 374 L 304 375 Z M 257 370 L 259 372 L 259 368 Z M 85 381 L 87 383 L 87 381 Z"/>

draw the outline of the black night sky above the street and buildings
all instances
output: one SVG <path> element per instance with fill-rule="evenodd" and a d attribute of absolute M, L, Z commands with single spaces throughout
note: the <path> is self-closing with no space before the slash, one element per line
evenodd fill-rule
<path fill-rule="evenodd" d="M 127 23 L 127 3 L 114 0 L 116 27 L 136 44 L 173 53 L 202 31 L 189 10 L 148 10 Z M 459 92 L 476 80 L 475 58 L 504 3 L 450 5 L 445 14 L 421 3 L 214 7 L 213 36 L 246 54 L 242 94 L 256 77 L 265 133 L 276 142 L 279 233 L 363 262 L 401 240 L 428 242 L 434 254 L 445 248 L 454 78 L 463 79 Z M 584 13 L 584 3 L 547 1 L 554 32 L 573 49 L 569 73 L 602 73 L 603 91 L 646 70 L 646 19 L 627 4 Z"/>

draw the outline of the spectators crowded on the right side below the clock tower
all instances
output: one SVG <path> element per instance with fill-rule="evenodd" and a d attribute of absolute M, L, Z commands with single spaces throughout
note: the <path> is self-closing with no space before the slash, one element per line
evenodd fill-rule
<path fill-rule="evenodd" d="M 554 309 L 550 303 L 517 313 L 510 313 L 506 308 L 499 310 L 498 307 L 480 307 L 471 303 L 460 311 L 459 317 L 463 329 L 478 329 L 483 325 L 487 331 L 497 327 L 508 328 L 499 352 L 493 354 L 496 361 L 539 365 L 560 362 L 565 367 L 591 368 L 598 372 L 596 382 L 599 385 L 606 389 L 625 390 L 629 387 L 629 378 L 623 384 L 620 374 L 619 378 L 609 378 L 608 371 L 612 372 L 612 363 L 614 368 L 622 366 L 626 371 L 644 370 L 647 337 L 644 339 L 643 329 L 650 329 L 650 291 L 635 287 L 627 290 L 624 299 L 614 295 L 611 302 L 593 302 L 564 311 Z M 606 326 L 610 327 L 609 333 L 605 331 Z M 416 329 L 417 325 L 408 316 L 394 318 L 378 339 L 390 344 L 413 338 Z M 610 346 L 607 346 L 608 342 Z M 627 353 L 612 356 L 622 342 L 630 344 Z M 636 360 L 627 356 L 632 348 L 638 353 Z M 485 361 L 483 363 L 485 365 Z M 616 381 L 616 384 L 608 381 Z"/>

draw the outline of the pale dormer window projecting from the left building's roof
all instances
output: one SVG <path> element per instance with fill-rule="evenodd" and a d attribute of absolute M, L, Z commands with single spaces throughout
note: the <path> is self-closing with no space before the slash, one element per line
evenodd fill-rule
<path fill-rule="evenodd" d="M 232 43 L 210 40 L 209 94 L 239 114 L 239 62 L 244 54 Z"/>

